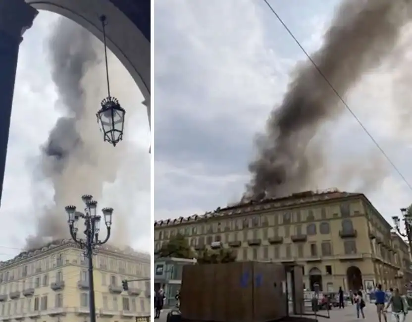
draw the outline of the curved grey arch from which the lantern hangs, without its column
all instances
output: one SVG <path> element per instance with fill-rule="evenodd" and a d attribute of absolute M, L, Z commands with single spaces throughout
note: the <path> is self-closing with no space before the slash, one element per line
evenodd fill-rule
<path fill-rule="evenodd" d="M 107 17 L 109 50 L 126 67 L 146 103 L 150 102 L 150 0 L 25 0 L 39 10 L 69 18 L 103 41 Z M 150 104 L 147 104 L 150 122 Z"/>

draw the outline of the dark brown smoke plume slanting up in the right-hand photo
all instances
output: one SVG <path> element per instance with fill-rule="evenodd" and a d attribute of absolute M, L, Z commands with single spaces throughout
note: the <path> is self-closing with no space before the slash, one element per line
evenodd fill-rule
<path fill-rule="evenodd" d="M 323 46 L 312 55 L 341 96 L 391 53 L 402 27 L 411 19 L 410 10 L 410 0 L 344 1 Z M 307 61 L 300 65 L 281 106 L 269 116 L 266 133 L 257 140 L 257 159 L 249 165 L 252 181 L 243 200 L 314 189 L 325 161 L 322 139 L 314 137 L 326 121 L 344 110 L 313 64 Z M 356 173 L 355 168 L 352 173 L 345 169 L 346 176 Z"/>

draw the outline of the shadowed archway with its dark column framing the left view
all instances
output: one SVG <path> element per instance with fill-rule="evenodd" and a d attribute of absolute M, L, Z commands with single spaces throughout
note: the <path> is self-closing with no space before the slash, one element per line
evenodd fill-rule
<path fill-rule="evenodd" d="M 145 101 L 150 124 L 150 0 L 0 0 L 0 202 L 4 179 L 17 60 L 24 32 L 38 9 L 65 16 L 103 39 L 128 70 Z"/>

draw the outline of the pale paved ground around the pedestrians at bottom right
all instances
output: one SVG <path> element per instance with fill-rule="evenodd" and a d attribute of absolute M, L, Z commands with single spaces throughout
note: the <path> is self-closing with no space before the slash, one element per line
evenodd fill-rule
<path fill-rule="evenodd" d="M 169 310 L 163 310 L 159 322 L 166 322 L 166 315 Z M 357 319 L 355 306 L 349 305 L 345 309 L 332 309 L 330 312 L 330 319 L 318 317 L 319 322 L 378 322 L 376 315 L 376 306 L 374 304 L 366 304 L 364 308 L 365 319 Z M 324 315 L 326 311 L 320 311 L 320 314 Z M 391 314 L 388 314 L 388 322 L 394 322 L 391 319 Z M 382 319 L 383 322 L 383 319 Z M 402 320 L 401 320 L 402 322 Z M 405 322 L 412 322 L 412 311 L 407 315 Z"/>

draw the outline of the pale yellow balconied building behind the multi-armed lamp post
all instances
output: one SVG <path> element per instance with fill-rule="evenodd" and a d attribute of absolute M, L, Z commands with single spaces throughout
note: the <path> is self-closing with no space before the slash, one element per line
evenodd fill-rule
<path fill-rule="evenodd" d="M 72 240 L 51 242 L 0 263 L 0 321 L 89 321 L 87 258 Z M 94 256 L 96 313 L 99 321 L 130 321 L 149 316 L 150 256 L 103 247 Z"/>

